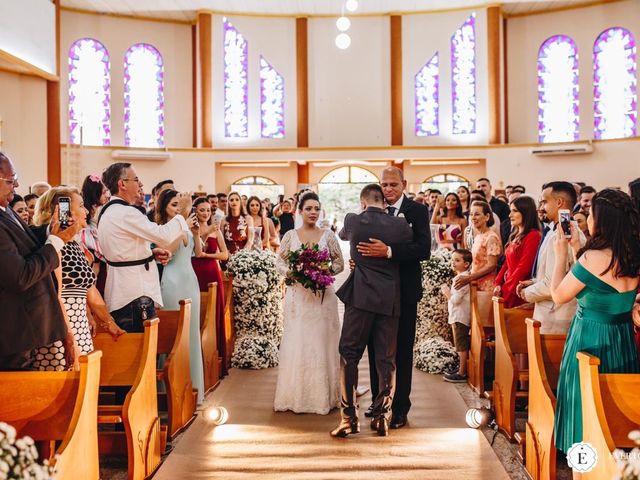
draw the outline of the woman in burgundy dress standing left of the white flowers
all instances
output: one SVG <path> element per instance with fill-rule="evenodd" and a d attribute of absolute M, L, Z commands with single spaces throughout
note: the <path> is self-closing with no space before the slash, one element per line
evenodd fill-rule
<path fill-rule="evenodd" d="M 191 257 L 193 270 L 198 277 L 198 285 L 201 292 L 209 290 L 209 283 L 218 284 L 216 291 L 216 337 L 218 341 L 218 355 L 225 358 L 225 331 L 224 331 L 224 284 L 222 282 L 222 270 L 219 260 L 227 260 L 229 252 L 222 238 L 222 232 L 211 215 L 211 204 L 206 197 L 200 197 L 193 202 L 193 208 L 200 224 L 200 241 L 202 242 L 202 255 Z M 194 239 L 198 240 L 198 239 Z M 224 362 L 223 362 L 224 368 Z M 223 371 L 225 374 L 226 371 Z"/>

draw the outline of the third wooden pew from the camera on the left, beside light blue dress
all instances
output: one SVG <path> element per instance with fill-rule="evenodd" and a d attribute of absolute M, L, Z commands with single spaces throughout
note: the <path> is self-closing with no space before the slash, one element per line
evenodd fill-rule
<path fill-rule="evenodd" d="M 158 354 L 167 354 L 162 370 L 156 372 L 158 380 L 167 387 L 166 397 L 169 413 L 168 437 L 170 440 L 193 421 L 196 396 L 191 384 L 189 360 L 189 325 L 191 323 L 191 299 L 180 300 L 180 310 L 158 310 Z M 164 401 L 160 403 L 164 404 Z"/>

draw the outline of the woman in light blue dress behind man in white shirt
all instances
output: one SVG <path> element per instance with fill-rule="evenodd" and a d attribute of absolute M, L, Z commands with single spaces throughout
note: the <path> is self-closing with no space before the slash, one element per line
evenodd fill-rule
<path fill-rule="evenodd" d="M 156 207 L 156 222 L 163 225 L 175 217 L 178 212 L 178 192 L 165 190 L 158 198 Z M 194 217 L 194 216 L 193 216 Z M 200 344 L 200 287 L 198 277 L 191 265 L 191 256 L 202 254 L 200 243 L 200 227 L 194 218 L 187 223 L 191 232 L 183 236 L 170 246 L 171 260 L 162 273 L 160 288 L 162 303 L 165 310 L 179 310 L 180 300 L 191 299 L 191 322 L 189 323 L 189 364 L 191 368 L 191 383 L 198 390 L 198 404 L 204 401 L 204 370 L 202 367 L 202 348 Z M 194 238 L 197 240 L 194 242 Z"/>

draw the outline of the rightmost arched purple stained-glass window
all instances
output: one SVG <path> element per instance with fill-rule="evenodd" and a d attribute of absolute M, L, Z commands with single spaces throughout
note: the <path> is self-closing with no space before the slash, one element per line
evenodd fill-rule
<path fill-rule="evenodd" d="M 636 41 L 625 28 L 609 28 L 593 44 L 593 134 L 636 134 Z"/>

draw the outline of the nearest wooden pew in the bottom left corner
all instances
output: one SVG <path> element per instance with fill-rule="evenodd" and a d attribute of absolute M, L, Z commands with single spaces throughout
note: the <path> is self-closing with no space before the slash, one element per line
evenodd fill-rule
<path fill-rule="evenodd" d="M 80 357 L 79 372 L 0 373 L 0 419 L 17 436 L 62 440 L 50 463 L 57 480 L 98 480 L 100 352 Z M 57 455 L 57 458 L 54 457 Z"/>

